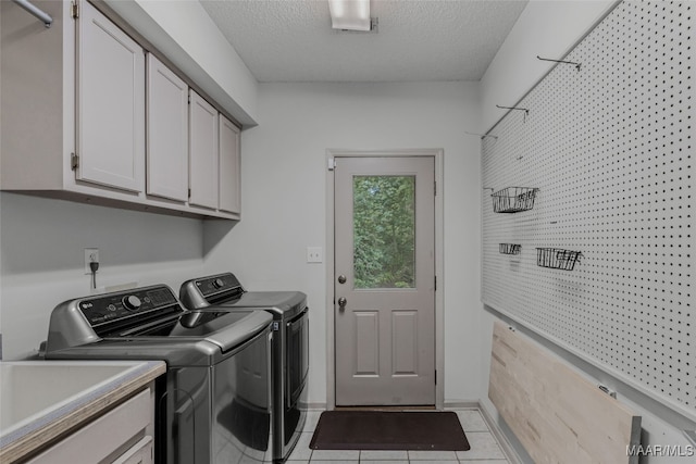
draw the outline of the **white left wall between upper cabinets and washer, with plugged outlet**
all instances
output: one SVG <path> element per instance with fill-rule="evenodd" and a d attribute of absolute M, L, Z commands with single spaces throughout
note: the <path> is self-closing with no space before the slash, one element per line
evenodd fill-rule
<path fill-rule="evenodd" d="M 0 193 L 2 356 L 36 354 L 53 308 L 90 293 L 84 249 L 99 248 L 98 287 L 178 286 L 202 272 L 199 220 Z"/>

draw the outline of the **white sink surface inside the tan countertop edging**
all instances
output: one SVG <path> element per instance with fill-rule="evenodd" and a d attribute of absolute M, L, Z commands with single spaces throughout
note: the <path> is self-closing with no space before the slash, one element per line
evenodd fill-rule
<path fill-rule="evenodd" d="M 138 371 L 144 362 L 17 361 L 0 363 L 0 444 L 70 413 Z"/>

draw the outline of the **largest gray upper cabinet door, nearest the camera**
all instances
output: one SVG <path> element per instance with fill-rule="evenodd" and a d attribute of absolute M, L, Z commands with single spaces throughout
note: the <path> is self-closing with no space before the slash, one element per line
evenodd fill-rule
<path fill-rule="evenodd" d="M 77 78 L 77 178 L 140 192 L 145 185 L 145 54 L 82 2 Z"/>

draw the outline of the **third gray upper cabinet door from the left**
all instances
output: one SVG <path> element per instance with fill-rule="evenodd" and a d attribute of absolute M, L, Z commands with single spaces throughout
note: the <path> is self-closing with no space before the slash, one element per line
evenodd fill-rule
<path fill-rule="evenodd" d="M 189 204 L 217 208 L 217 110 L 192 90 L 188 106 Z"/>

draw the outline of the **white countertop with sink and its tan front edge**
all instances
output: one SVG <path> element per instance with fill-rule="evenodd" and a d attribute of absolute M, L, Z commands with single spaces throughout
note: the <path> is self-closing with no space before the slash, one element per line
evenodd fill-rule
<path fill-rule="evenodd" d="M 162 361 L 0 363 L 2 462 L 67 435 L 165 372 Z"/>

